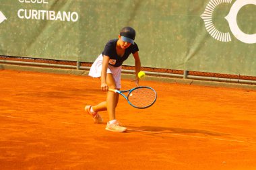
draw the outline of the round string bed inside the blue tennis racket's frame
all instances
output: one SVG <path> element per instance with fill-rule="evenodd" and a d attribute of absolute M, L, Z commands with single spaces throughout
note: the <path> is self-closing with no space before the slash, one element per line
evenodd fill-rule
<path fill-rule="evenodd" d="M 152 89 L 139 88 L 131 91 L 128 100 L 138 108 L 145 108 L 152 105 L 156 99 L 156 93 Z"/>

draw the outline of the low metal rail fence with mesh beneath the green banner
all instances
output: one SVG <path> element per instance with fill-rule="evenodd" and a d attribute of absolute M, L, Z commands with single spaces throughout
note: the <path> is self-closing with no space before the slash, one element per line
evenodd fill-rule
<path fill-rule="evenodd" d="M 60 69 L 76 69 L 89 71 L 92 62 L 0 56 L 0 64 L 24 65 L 27 67 L 51 67 Z M 206 73 L 199 71 L 183 71 L 174 69 L 158 69 L 150 67 L 142 67 L 141 70 L 145 71 L 147 75 L 154 77 L 172 77 L 177 79 L 197 79 L 205 81 L 220 81 L 227 83 L 244 83 L 249 85 L 256 85 L 256 77 L 246 75 L 228 75 L 220 73 Z M 134 67 L 124 65 L 122 73 L 134 74 Z"/>

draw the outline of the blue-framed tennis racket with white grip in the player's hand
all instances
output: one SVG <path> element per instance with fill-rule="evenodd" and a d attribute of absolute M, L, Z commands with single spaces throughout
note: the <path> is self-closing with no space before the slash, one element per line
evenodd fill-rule
<path fill-rule="evenodd" d="M 119 91 L 117 89 L 108 89 L 115 93 L 119 93 L 127 99 L 128 103 L 134 108 L 146 109 L 156 102 L 156 91 L 152 87 L 139 86 L 133 89 Z M 125 95 L 124 93 L 128 93 Z"/>

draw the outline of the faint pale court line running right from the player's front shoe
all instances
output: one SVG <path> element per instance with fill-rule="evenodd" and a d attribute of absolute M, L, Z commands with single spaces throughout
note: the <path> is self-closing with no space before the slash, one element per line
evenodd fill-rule
<path fill-rule="evenodd" d="M 174 134 L 174 133 L 165 133 L 165 132 L 154 132 L 154 131 L 148 131 L 148 130 L 136 130 L 136 129 L 128 129 L 131 131 L 135 132 L 147 132 L 147 133 L 152 133 L 152 134 L 166 134 L 170 136 L 183 136 L 186 138 L 203 138 L 203 139 L 209 139 L 209 140 L 222 140 L 222 141 L 227 141 L 227 142 L 240 142 L 240 143 L 250 143 L 250 144 L 256 144 L 256 142 L 249 142 L 249 141 L 244 141 L 244 140 L 232 140 L 232 139 L 225 139 L 225 138 L 211 138 L 211 137 L 204 137 L 204 136 L 193 136 L 193 135 L 188 135 L 188 134 Z"/>

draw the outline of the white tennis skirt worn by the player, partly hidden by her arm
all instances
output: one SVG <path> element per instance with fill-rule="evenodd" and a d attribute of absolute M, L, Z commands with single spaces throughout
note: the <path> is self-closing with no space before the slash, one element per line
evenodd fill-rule
<path fill-rule="evenodd" d="M 102 54 L 100 54 L 98 58 L 96 58 L 96 60 L 94 61 L 90 69 L 89 75 L 91 77 L 101 77 L 102 61 L 103 61 L 103 56 Z M 113 75 L 117 89 L 121 89 L 121 71 L 122 71 L 122 66 L 113 67 L 112 65 L 108 65 L 108 69 L 106 71 L 106 73 L 110 73 Z"/>

